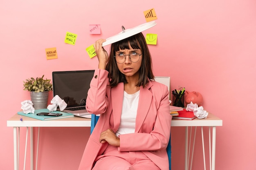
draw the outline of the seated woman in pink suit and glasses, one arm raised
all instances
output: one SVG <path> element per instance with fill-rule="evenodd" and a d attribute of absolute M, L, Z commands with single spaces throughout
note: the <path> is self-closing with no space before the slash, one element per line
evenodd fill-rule
<path fill-rule="evenodd" d="M 142 33 L 111 45 L 95 42 L 99 68 L 86 109 L 101 114 L 79 170 L 168 170 L 166 147 L 171 115 L 168 88 L 153 81 L 151 56 Z"/>

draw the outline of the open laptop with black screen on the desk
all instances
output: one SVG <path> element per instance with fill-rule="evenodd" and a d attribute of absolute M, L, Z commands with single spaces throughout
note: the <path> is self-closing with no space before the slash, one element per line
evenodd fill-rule
<path fill-rule="evenodd" d="M 94 70 L 52 72 L 53 95 L 67 103 L 64 112 L 89 118 L 85 103 L 93 75 Z"/>

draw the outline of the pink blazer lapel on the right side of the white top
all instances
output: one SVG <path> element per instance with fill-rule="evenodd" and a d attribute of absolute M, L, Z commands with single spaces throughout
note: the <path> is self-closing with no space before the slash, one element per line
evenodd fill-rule
<path fill-rule="evenodd" d="M 149 81 L 149 80 L 148 80 Z M 136 123 L 135 123 L 135 133 L 139 132 L 150 108 L 153 94 L 150 92 L 149 88 L 152 86 L 152 83 L 149 81 L 146 86 L 140 87 L 139 92 L 139 105 L 137 109 Z"/>

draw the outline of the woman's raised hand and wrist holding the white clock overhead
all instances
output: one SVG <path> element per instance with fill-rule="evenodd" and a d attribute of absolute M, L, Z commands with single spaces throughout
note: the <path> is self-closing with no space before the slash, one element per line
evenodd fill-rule
<path fill-rule="evenodd" d="M 99 60 L 99 69 L 103 70 L 105 70 L 108 61 L 108 52 L 102 47 L 102 43 L 105 41 L 106 39 L 99 39 L 94 44 L 94 49 Z"/>

